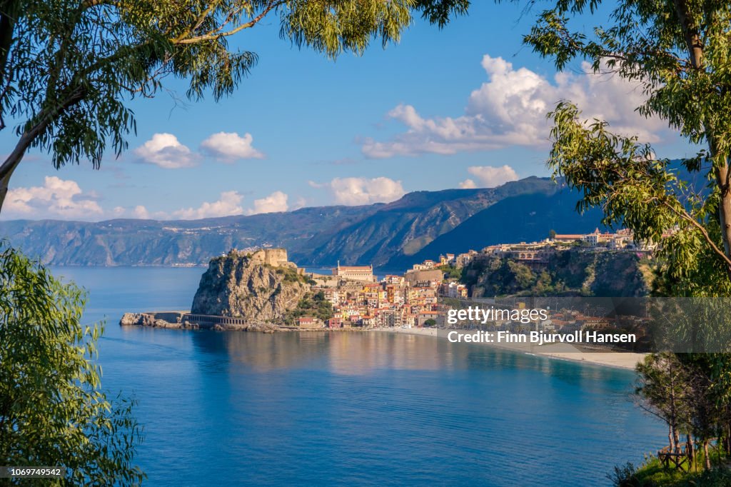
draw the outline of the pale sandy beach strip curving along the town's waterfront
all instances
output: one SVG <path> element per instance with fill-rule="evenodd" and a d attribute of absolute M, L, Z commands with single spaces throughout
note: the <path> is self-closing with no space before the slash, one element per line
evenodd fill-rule
<path fill-rule="evenodd" d="M 390 333 L 406 333 L 409 335 L 425 335 L 445 338 L 437 333 L 436 328 L 379 328 L 379 331 Z M 634 370 L 635 365 L 645 358 L 645 353 L 635 352 L 585 352 L 579 350 L 572 344 L 544 344 L 536 345 L 530 343 L 480 343 L 485 347 L 496 347 L 514 352 L 527 353 L 529 355 L 541 355 L 542 357 L 554 358 L 557 360 L 571 360 L 574 362 L 591 363 L 599 366 L 616 367 L 618 369 Z"/>

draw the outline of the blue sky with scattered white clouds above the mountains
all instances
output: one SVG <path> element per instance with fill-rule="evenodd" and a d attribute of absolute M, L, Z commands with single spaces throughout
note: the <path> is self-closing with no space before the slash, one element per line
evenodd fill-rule
<path fill-rule="evenodd" d="M 192 219 L 548 175 L 544 116 L 561 98 L 639 132 L 660 156 L 692 153 L 662 121 L 632 113 L 641 98 L 624 81 L 586 75 L 579 62 L 556 78 L 521 44 L 535 15 L 520 8 L 476 1 L 441 31 L 416 20 L 398 45 L 335 62 L 292 47 L 273 21 L 244 31 L 233 44 L 260 62 L 232 97 L 187 102 L 185 83 L 167 80 L 178 99 L 132 102 L 137 135 L 101 170 L 55 170 L 31 151 L 2 217 Z M 14 143 L 4 131 L 0 154 Z"/>

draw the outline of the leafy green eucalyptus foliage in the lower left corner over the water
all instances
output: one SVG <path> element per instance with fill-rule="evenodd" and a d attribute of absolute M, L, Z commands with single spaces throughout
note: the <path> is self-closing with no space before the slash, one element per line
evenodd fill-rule
<path fill-rule="evenodd" d="M 67 467 L 37 485 L 139 485 L 142 431 L 133 401 L 101 388 L 85 300 L 0 243 L 0 464 Z"/>

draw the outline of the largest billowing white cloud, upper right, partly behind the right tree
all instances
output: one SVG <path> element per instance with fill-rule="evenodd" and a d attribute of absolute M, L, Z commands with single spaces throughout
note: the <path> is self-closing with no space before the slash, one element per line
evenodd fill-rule
<path fill-rule="evenodd" d="M 503 58 L 485 55 L 482 68 L 488 81 L 472 91 L 462 116 L 425 118 L 412 105 L 398 105 L 387 116 L 406 131 L 386 141 L 364 140 L 363 154 L 377 159 L 542 146 L 548 144 L 546 113 L 561 99 L 575 102 L 586 118 L 610 121 L 616 132 L 637 134 L 645 142 L 657 142 L 667 130 L 663 121 L 635 112 L 644 101 L 636 84 L 594 75 L 586 62 L 582 69 L 588 74 L 558 73 L 553 83 Z"/>

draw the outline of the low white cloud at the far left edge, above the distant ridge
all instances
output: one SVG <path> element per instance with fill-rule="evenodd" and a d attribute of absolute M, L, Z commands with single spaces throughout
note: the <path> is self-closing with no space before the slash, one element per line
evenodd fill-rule
<path fill-rule="evenodd" d="M 11 218 L 89 219 L 102 214 L 93 193 L 84 194 L 76 181 L 56 176 L 46 176 L 43 186 L 10 189 L 3 205 L 3 216 Z"/>

